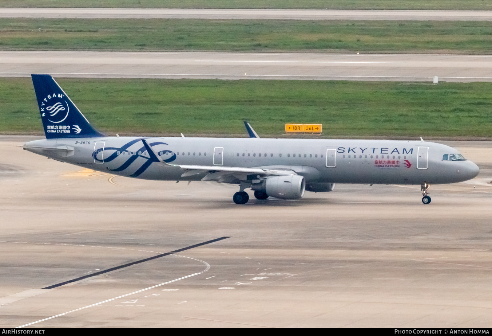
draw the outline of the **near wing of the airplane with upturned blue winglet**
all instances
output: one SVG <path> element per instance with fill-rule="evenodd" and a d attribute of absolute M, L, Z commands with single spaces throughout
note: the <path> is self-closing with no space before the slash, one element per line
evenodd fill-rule
<path fill-rule="evenodd" d="M 297 175 L 297 173 L 293 170 L 283 170 L 283 169 L 267 169 L 267 168 L 243 168 L 243 167 L 222 167 L 222 166 L 194 166 L 194 165 L 171 165 L 162 160 L 162 158 L 157 155 L 154 151 L 154 148 L 145 140 L 142 139 L 142 142 L 149 153 L 149 156 L 155 161 L 160 162 L 166 166 L 177 167 L 186 169 L 181 177 L 201 174 L 204 172 L 209 172 L 202 181 L 217 181 L 217 182 L 225 182 L 230 180 L 231 178 L 237 178 L 239 180 L 246 180 L 246 175 L 257 174 L 262 177 L 268 175 Z"/>

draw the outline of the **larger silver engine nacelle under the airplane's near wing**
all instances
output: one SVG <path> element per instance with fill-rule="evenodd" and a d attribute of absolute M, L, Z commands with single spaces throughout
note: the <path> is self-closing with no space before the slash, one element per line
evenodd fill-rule
<path fill-rule="evenodd" d="M 295 199 L 304 196 L 306 180 L 300 175 L 269 177 L 265 180 L 265 192 L 268 196 Z"/>

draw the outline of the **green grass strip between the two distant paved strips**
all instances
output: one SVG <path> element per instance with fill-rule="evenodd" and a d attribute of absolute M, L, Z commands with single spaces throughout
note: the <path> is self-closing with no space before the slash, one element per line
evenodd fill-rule
<path fill-rule="evenodd" d="M 492 22 L 0 19 L 0 50 L 487 54 Z"/>

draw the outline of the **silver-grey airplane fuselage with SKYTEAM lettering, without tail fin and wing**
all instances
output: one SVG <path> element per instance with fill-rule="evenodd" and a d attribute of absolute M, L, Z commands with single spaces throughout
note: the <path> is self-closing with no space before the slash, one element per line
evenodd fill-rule
<path fill-rule="evenodd" d="M 209 173 L 182 177 L 184 169 L 152 161 L 142 139 L 172 165 L 291 169 L 307 183 L 440 184 L 469 180 L 479 172 L 471 161 L 443 160 L 444 154 L 459 152 L 427 141 L 103 137 L 36 140 L 25 149 L 142 179 L 190 181 Z"/>

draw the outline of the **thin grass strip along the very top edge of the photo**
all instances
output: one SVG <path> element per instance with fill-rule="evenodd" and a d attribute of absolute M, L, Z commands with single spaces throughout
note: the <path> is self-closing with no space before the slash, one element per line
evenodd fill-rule
<path fill-rule="evenodd" d="M 0 0 L 0 7 L 490 10 L 487 0 Z"/>

